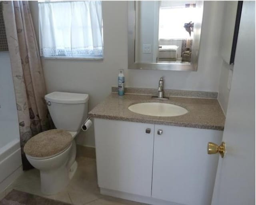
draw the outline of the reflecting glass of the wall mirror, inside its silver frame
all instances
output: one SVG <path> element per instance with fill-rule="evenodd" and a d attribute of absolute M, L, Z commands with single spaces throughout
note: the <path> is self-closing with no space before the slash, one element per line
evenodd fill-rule
<path fill-rule="evenodd" d="M 135 2 L 135 63 L 190 64 L 197 13 L 196 1 Z"/>

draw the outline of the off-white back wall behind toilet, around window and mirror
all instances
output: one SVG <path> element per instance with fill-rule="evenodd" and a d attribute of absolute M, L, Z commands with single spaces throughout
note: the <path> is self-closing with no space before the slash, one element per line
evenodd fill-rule
<path fill-rule="evenodd" d="M 38 28 L 36 2 L 30 3 Z M 156 88 L 164 76 L 166 89 L 218 92 L 222 2 L 205 1 L 197 72 L 127 69 L 127 2 L 103 1 L 104 60 L 42 60 L 48 92 L 81 92 L 90 95 L 89 109 L 101 102 L 117 85 L 118 69 L 124 68 L 126 86 Z M 36 31 L 37 32 L 37 31 Z M 93 129 L 79 143 L 94 146 Z"/>

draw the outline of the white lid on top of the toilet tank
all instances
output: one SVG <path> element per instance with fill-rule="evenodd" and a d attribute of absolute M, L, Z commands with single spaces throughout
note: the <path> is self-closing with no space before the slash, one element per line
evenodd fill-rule
<path fill-rule="evenodd" d="M 80 104 L 88 102 L 89 95 L 80 93 L 52 92 L 44 96 L 44 99 L 55 103 Z"/>

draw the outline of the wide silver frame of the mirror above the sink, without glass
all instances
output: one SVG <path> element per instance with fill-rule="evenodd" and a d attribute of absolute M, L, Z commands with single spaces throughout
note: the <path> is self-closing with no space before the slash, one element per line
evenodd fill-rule
<path fill-rule="evenodd" d="M 190 63 L 136 63 L 135 62 L 135 29 L 136 1 L 128 1 L 128 69 L 138 70 L 176 70 L 196 71 L 198 66 L 201 26 L 204 1 L 196 1 L 198 19 L 194 22 L 194 39 Z"/>

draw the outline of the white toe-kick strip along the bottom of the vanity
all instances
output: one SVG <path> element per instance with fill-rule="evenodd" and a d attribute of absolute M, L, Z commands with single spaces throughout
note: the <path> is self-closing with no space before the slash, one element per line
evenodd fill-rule
<path fill-rule="evenodd" d="M 130 194 L 122 191 L 115 191 L 111 189 L 100 188 L 100 193 L 112 197 L 126 199 L 130 201 L 136 201 L 140 203 L 152 204 L 152 205 L 182 205 L 180 203 L 174 203 L 170 201 L 164 201 L 161 199 L 154 199 L 152 197 L 144 197 L 136 194 Z"/>

